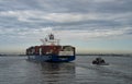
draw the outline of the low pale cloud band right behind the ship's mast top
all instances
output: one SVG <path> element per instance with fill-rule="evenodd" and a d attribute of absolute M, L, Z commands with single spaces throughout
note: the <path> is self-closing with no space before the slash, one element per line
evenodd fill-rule
<path fill-rule="evenodd" d="M 3 32 L 4 31 L 4 32 Z M 103 29 L 57 29 L 57 27 L 44 27 L 44 28 L 0 28 L 0 38 L 3 36 L 10 39 L 23 39 L 23 40 L 35 40 L 46 36 L 46 34 L 54 33 L 61 39 L 75 39 L 75 40 L 89 40 L 89 39 L 118 39 L 119 36 L 127 36 L 131 34 L 131 27 L 123 28 L 103 28 Z"/>

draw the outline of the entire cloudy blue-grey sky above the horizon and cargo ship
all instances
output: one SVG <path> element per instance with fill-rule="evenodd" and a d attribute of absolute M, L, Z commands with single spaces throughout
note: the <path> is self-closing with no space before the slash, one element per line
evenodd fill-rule
<path fill-rule="evenodd" d="M 132 0 L 0 0 L 0 53 L 50 33 L 77 53 L 132 53 Z"/>

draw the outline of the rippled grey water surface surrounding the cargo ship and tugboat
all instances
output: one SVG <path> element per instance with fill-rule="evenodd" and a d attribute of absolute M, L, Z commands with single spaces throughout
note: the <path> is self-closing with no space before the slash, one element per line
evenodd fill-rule
<path fill-rule="evenodd" d="M 96 56 L 65 63 L 0 57 L 0 84 L 132 84 L 132 57 L 102 57 L 110 65 L 92 65 Z"/>

